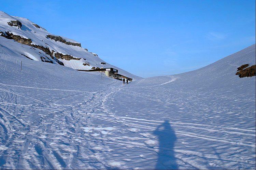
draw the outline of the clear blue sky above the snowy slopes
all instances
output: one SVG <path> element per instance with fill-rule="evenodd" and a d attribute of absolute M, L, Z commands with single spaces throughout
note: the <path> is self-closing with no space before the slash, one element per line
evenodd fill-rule
<path fill-rule="evenodd" d="M 0 11 L 144 78 L 195 70 L 255 44 L 255 0 L 8 0 Z"/>

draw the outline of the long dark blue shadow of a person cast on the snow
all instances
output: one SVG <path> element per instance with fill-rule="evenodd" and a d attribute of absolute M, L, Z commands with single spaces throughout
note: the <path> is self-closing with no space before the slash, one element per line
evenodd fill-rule
<path fill-rule="evenodd" d="M 174 157 L 174 142 L 176 136 L 170 123 L 166 120 L 157 127 L 154 134 L 158 136 L 159 151 L 155 169 L 177 169 Z"/>

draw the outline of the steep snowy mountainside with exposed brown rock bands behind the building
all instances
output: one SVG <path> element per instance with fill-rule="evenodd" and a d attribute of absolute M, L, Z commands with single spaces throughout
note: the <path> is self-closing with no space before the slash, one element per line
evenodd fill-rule
<path fill-rule="evenodd" d="M 26 18 L 10 16 L 0 11 L 0 52 L 17 54 L 22 58 L 51 62 L 73 69 L 118 69 L 118 73 L 140 79 L 125 70 L 101 60 L 97 54 L 88 52 L 75 40 L 53 35 Z M 9 38 L 9 39 L 8 39 Z M 15 41 L 17 42 L 15 42 Z M 38 50 L 40 49 L 40 50 Z"/>

